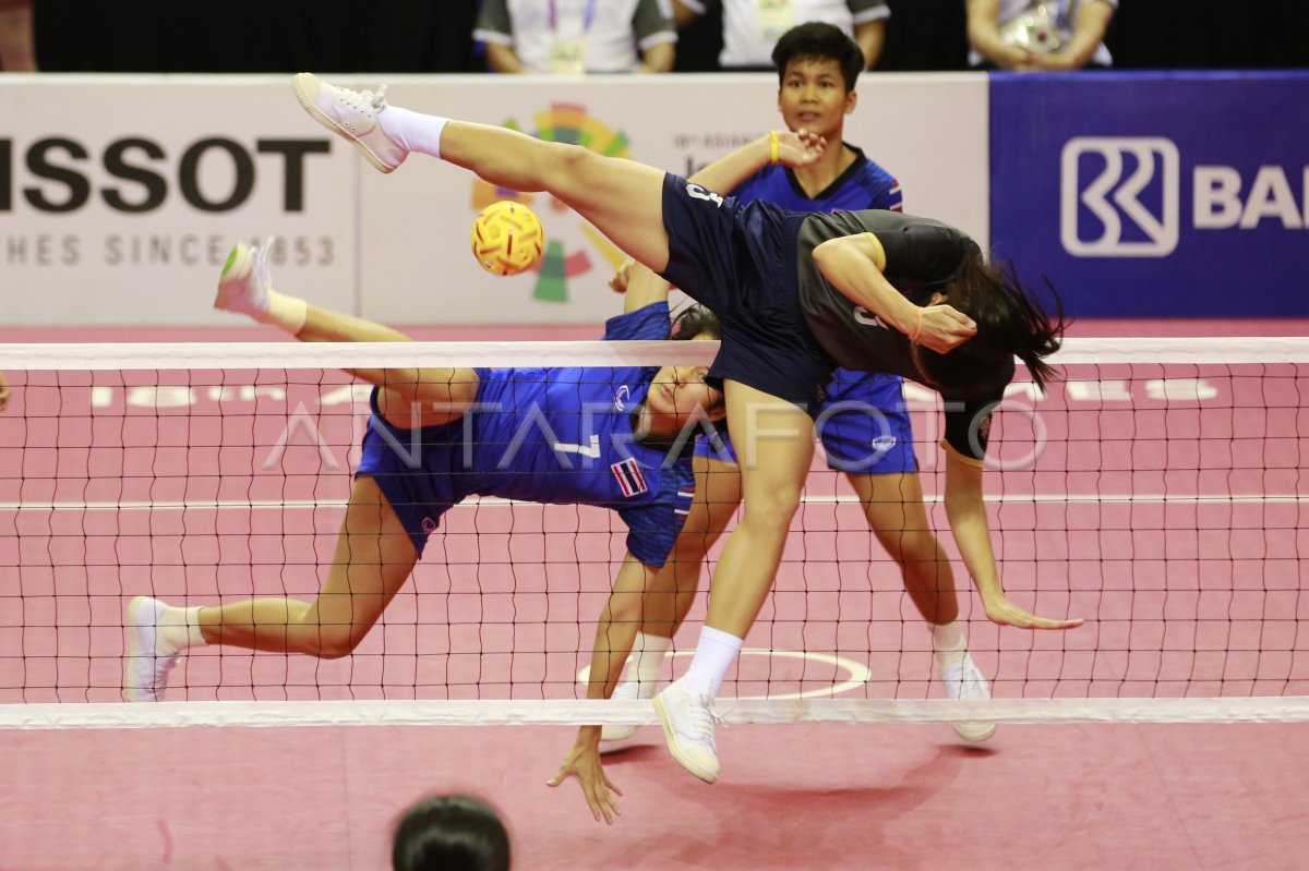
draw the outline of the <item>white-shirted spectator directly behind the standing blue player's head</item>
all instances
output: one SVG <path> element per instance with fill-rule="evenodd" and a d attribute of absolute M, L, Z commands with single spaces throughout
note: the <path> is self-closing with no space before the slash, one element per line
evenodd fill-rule
<path fill-rule="evenodd" d="M 703 14 L 713 0 L 673 0 L 678 24 Z M 724 72 L 774 71 L 772 47 L 795 25 L 823 21 L 853 37 L 864 52 L 864 69 L 882 56 L 886 0 L 717 0 L 723 7 Z"/>

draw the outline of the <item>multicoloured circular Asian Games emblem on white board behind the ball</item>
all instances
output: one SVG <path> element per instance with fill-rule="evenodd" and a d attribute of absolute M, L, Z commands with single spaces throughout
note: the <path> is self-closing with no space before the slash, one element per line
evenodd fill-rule
<path fill-rule="evenodd" d="M 531 135 L 539 140 L 583 145 L 606 157 L 631 157 L 626 133 L 610 129 L 600 119 L 588 115 L 586 107 L 579 103 L 552 103 L 548 110 L 538 112 L 533 122 L 537 128 Z M 504 126 L 526 132 L 513 118 Z M 496 200 L 514 200 L 539 212 L 542 207 L 534 200 L 541 196 L 548 197 L 546 205 L 551 212 L 560 214 L 567 212 L 576 218 L 576 224 L 572 225 L 576 230 L 569 231 L 564 221 L 554 222 L 552 231 L 546 238 L 546 251 L 531 268 L 537 276 L 531 298 L 541 302 L 568 302 L 568 280 L 597 268 L 594 254 L 598 254 L 611 269 L 617 269 L 626 255 L 601 235 L 600 230 L 548 194 L 521 194 L 476 179 L 473 183 L 471 207 L 474 212 L 480 212 Z M 563 233 L 556 231 L 560 226 L 565 228 Z"/>

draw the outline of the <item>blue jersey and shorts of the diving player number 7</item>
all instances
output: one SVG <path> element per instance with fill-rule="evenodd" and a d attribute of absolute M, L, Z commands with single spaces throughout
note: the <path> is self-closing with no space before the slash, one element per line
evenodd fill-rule
<path fill-rule="evenodd" d="M 606 340 L 666 339 L 658 302 L 613 318 Z M 359 473 L 373 475 L 421 552 L 440 517 L 466 496 L 618 511 L 627 549 L 662 566 L 690 509 L 689 458 L 635 441 L 654 367 L 479 369 L 475 405 L 421 430 L 374 415 Z"/>

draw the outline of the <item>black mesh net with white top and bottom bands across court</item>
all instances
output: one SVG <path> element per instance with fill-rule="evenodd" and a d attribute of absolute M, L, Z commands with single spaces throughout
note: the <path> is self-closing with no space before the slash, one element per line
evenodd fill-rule
<path fill-rule="evenodd" d="M 0 413 L 0 727 L 653 722 L 649 702 L 585 700 L 628 535 L 605 507 L 470 497 L 348 657 L 196 647 L 157 705 L 122 702 L 124 606 L 314 598 L 369 417 L 370 387 L 342 369 L 600 371 L 715 349 L 0 345 L 13 391 Z M 906 383 L 928 515 L 994 698 L 941 698 L 899 568 L 819 451 L 724 685 L 729 721 L 1309 718 L 1309 340 L 1083 339 L 1052 362 L 1063 381 L 1042 394 L 1020 366 L 995 416 L 986 498 L 1009 598 L 1085 625 L 986 619 L 942 505 L 940 400 Z M 689 663 L 707 590 L 706 572 L 665 679 Z"/>

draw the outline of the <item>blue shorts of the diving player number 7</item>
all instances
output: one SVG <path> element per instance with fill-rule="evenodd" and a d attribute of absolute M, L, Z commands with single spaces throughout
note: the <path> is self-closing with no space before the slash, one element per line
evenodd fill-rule
<path fill-rule="evenodd" d="M 483 384 L 486 371 L 476 370 Z M 421 556 L 428 536 L 441 526 L 441 517 L 471 492 L 465 488 L 471 477 L 463 456 L 465 418 L 402 429 L 377 412 L 376 387 L 368 401 L 373 415 L 368 418 L 355 475 L 373 476 Z"/>

